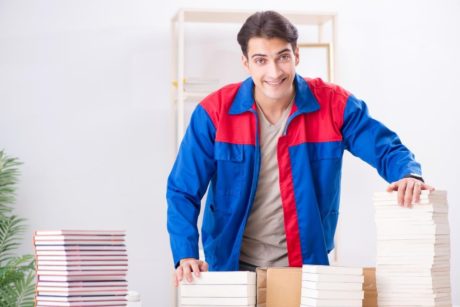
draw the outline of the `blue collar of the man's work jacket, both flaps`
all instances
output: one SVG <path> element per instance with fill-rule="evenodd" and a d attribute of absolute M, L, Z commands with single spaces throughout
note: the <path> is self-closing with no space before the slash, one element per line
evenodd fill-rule
<path fill-rule="evenodd" d="M 319 103 L 304 78 L 296 74 L 294 84 L 296 88 L 294 104 L 297 107 L 297 112 L 309 113 L 319 110 Z M 254 105 L 253 89 L 254 81 L 251 77 L 241 83 L 241 86 L 233 99 L 229 114 L 241 114 L 252 109 L 252 106 Z"/>

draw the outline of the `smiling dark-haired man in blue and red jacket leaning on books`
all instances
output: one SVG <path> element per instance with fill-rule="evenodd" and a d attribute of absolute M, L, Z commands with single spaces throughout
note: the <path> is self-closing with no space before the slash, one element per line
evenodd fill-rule
<path fill-rule="evenodd" d="M 200 271 L 328 264 L 334 248 L 344 150 L 418 202 L 419 163 L 363 101 L 297 75 L 297 30 L 276 12 L 250 16 L 238 43 L 250 78 L 195 109 L 168 179 L 176 285 Z M 209 184 L 210 183 L 210 184 Z M 208 188 L 198 260 L 197 217 Z"/>

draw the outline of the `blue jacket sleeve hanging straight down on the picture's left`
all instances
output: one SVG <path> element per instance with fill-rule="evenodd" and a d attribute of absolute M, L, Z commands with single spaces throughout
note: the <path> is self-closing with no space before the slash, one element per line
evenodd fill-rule
<path fill-rule="evenodd" d="M 197 220 L 201 199 L 216 168 L 215 132 L 211 118 L 199 105 L 192 114 L 168 177 L 167 228 L 176 267 L 183 258 L 199 257 Z"/>

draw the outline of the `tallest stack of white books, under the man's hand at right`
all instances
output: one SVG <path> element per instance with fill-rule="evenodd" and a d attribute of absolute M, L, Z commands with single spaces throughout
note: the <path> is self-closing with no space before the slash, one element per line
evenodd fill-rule
<path fill-rule="evenodd" d="M 422 191 L 410 208 L 397 193 L 374 195 L 379 306 L 450 306 L 450 239 L 445 191 Z"/>

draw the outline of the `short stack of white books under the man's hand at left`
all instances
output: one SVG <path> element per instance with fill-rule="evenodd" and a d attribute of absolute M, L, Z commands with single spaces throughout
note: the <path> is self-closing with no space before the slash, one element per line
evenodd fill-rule
<path fill-rule="evenodd" d="M 201 272 L 192 282 L 180 283 L 180 306 L 238 306 L 256 304 L 256 273 Z"/>

